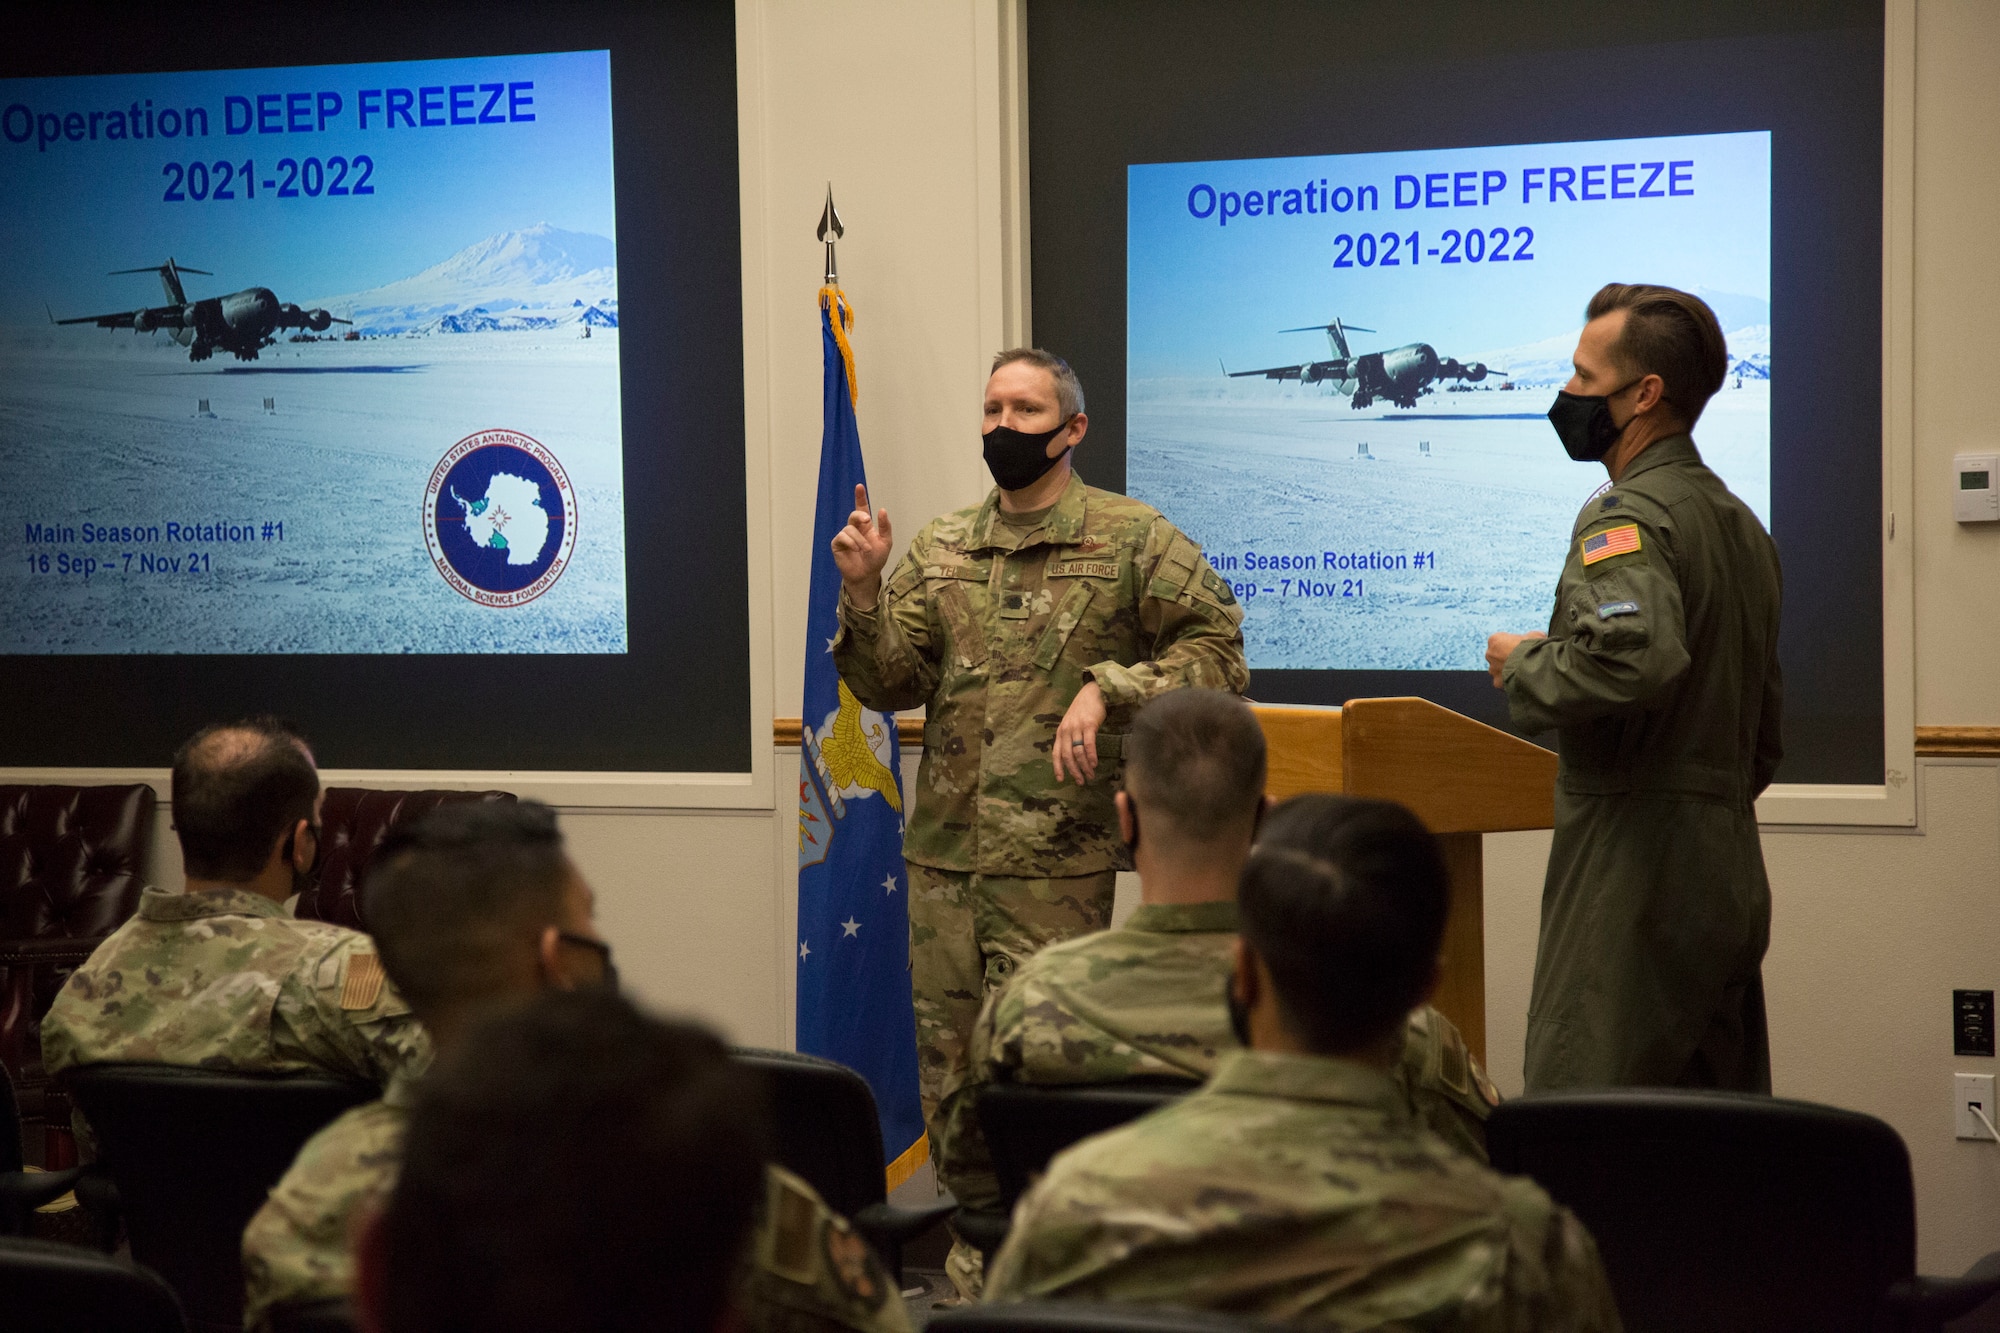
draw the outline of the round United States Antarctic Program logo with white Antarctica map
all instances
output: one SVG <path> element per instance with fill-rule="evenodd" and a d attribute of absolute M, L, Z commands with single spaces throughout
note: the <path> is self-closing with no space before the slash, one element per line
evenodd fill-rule
<path fill-rule="evenodd" d="M 462 596 L 480 606 L 522 606 L 570 564 L 576 490 L 540 440 L 478 430 L 430 472 L 424 544 Z"/>

